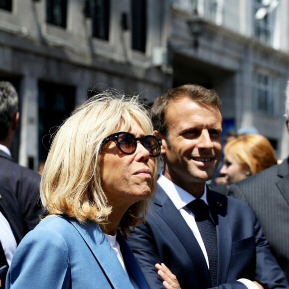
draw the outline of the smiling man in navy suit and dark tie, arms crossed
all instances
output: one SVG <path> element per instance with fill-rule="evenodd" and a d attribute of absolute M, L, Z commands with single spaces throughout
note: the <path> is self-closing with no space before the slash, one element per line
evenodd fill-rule
<path fill-rule="evenodd" d="M 206 186 L 221 157 L 216 92 L 171 89 L 151 115 L 164 168 L 146 222 L 129 239 L 150 287 L 163 288 L 154 268 L 163 262 L 182 289 L 289 288 L 252 209 Z"/>

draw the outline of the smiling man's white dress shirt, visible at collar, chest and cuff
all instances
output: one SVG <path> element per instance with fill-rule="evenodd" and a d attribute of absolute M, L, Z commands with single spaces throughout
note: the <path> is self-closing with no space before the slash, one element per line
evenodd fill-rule
<path fill-rule="evenodd" d="M 198 226 L 195 221 L 195 216 L 192 213 L 190 209 L 186 207 L 187 204 L 195 200 L 196 198 L 192 196 L 190 193 L 182 189 L 181 187 L 174 184 L 172 181 L 170 181 L 168 178 L 166 178 L 163 174 L 160 175 L 160 177 L 157 180 L 157 183 L 161 186 L 161 188 L 165 191 L 165 193 L 168 195 L 174 206 L 178 209 L 182 217 L 184 218 L 185 222 L 193 232 L 203 254 L 207 262 L 207 266 L 209 268 L 209 259 L 207 255 L 207 251 L 204 245 L 204 242 L 202 240 L 200 231 L 198 229 Z M 204 193 L 202 197 L 200 198 L 203 200 L 207 205 L 207 187 L 204 186 Z M 243 283 L 248 289 L 258 289 L 258 286 L 253 283 L 252 281 L 242 278 L 237 280 L 241 283 Z"/>

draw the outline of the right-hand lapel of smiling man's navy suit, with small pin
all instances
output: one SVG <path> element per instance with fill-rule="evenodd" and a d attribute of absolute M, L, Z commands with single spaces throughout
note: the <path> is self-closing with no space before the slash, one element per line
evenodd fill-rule
<path fill-rule="evenodd" d="M 218 284 L 226 281 L 230 265 L 232 237 L 227 216 L 227 198 L 212 193 L 207 187 L 207 199 L 215 221 L 218 238 Z"/>

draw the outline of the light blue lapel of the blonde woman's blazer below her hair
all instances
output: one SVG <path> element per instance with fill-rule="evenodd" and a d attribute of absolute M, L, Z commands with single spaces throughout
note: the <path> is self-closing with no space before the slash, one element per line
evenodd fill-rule
<path fill-rule="evenodd" d="M 91 250 L 111 286 L 133 289 L 129 276 L 99 226 L 94 222 L 87 222 L 85 225 L 81 225 L 75 220 L 69 220 L 69 222 Z"/>

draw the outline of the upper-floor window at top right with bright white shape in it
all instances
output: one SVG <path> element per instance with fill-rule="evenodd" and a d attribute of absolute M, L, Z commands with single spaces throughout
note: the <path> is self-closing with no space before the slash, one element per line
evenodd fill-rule
<path fill-rule="evenodd" d="M 266 5 L 265 2 L 268 1 L 254 0 L 254 36 L 261 42 L 271 45 L 278 1 L 271 1 Z"/>

